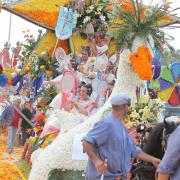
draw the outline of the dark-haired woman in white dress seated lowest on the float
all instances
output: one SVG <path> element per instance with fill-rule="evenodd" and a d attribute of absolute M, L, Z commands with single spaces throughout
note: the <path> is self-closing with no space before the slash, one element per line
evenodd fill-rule
<path fill-rule="evenodd" d="M 57 109 L 49 112 L 48 121 L 58 122 L 62 133 L 84 122 L 96 110 L 96 103 L 90 97 L 92 93 L 91 85 L 80 83 L 77 91 L 76 96 L 72 96 L 72 93 L 68 94 L 62 109 L 60 107 L 63 98 L 57 105 Z"/>

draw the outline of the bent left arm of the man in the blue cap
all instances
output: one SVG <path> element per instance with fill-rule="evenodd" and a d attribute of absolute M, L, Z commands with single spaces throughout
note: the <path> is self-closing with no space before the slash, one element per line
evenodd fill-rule
<path fill-rule="evenodd" d="M 88 143 L 87 141 L 83 141 L 83 148 L 87 153 L 89 159 L 93 162 L 97 171 L 102 175 L 104 171 L 107 170 L 108 163 L 107 160 L 102 161 L 97 156 L 97 150 L 95 145 Z"/>

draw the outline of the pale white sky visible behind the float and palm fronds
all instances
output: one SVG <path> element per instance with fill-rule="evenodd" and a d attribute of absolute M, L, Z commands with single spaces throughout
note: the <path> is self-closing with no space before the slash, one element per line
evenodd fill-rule
<path fill-rule="evenodd" d="M 144 0 L 144 3 L 147 4 L 151 0 Z M 173 2 L 172 7 L 177 8 L 180 7 L 180 0 L 171 0 Z M 154 0 L 157 2 L 157 0 Z M 180 11 L 177 11 L 178 16 L 180 17 Z M 3 48 L 4 43 L 8 41 L 8 34 L 9 34 L 9 19 L 10 14 L 7 11 L 2 10 L 0 13 L 0 50 Z M 35 26 L 32 23 L 29 23 L 23 20 L 16 15 L 12 15 L 12 25 L 11 25 L 11 38 L 10 42 L 12 46 L 15 46 L 17 41 L 24 40 L 24 34 L 22 31 L 30 30 L 30 33 L 34 36 L 37 35 L 38 29 L 41 29 L 38 26 Z M 173 29 L 173 30 L 165 30 L 166 33 L 173 36 L 175 40 L 170 44 L 174 46 L 176 49 L 180 49 L 180 29 Z"/>

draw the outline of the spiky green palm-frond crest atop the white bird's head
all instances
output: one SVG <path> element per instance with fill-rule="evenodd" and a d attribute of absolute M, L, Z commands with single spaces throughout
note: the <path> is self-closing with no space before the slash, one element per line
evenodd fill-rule
<path fill-rule="evenodd" d="M 112 28 L 110 28 L 112 31 L 110 36 L 117 41 L 117 47 L 119 49 L 124 47 L 131 48 L 136 36 L 146 37 L 151 34 L 156 46 L 166 44 L 167 47 L 172 49 L 168 43 L 169 40 L 172 40 L 172 37 L 165 37 L 165 33 L 160 29 L 173 27 L 173 24 L 180 23 L 178 18 L 175 19 L 167 14 L 167 12 L 173 12 L 173 10 L 169 8 L 166 11 L 160 3 L 157 3 L 154 7 L 145 7 L 142 0 L 140 2 L 138 0 L 130 0 L 130 3 L 133 7 L 133 12 L 126 11 L 119 4 L 115 6 L 115 11 L 112 12 L 113 17 L 121 20 L 118 23 L 112 23 Z M 145 13 L 143 8 L 145 8 L 145 11 L 149 11 L 149 14 Z M 165 21 L 162 21 L 163 19 Z M 170 22 L 171 19 L 172 21 Z"/>

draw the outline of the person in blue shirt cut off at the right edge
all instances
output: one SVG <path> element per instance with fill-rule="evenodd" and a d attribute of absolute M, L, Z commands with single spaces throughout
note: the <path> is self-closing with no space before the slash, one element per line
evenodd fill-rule
<path fill-rule="evenodd" d="M 158 180 L 180 179 L 180 126 L 170 135 L 167 151 L 158 168 Z"/>

